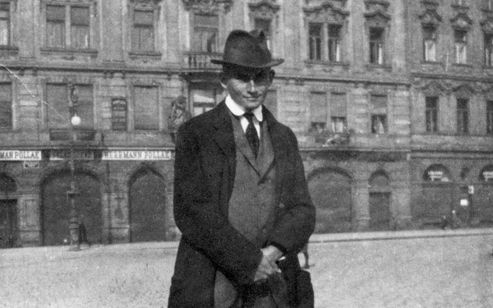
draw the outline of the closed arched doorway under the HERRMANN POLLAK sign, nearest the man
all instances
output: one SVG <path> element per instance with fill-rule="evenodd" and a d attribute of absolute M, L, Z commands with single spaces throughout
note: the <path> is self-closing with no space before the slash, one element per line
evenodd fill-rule
<path fill-rule="evenodd" d="M 143 168 L 130 183 L 130 239 L 166 240 L 166 193 L 163 177 Z"/>

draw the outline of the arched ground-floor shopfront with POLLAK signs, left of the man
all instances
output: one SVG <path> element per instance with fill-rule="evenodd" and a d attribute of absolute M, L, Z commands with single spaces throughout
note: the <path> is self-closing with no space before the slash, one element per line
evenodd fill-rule
<path fill-rule="evenodd" d="M 70 242 L 76 218 L 91 243 L 176 240 L 173 151 L 1 150 L 1 247 Z"/>

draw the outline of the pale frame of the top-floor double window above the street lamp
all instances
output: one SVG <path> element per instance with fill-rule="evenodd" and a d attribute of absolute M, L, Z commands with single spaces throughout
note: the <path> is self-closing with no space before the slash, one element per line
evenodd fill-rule
<path fill-rule="evenodd" d="M 50 46 L 48 43 L 48 6 L 63 6 L 65 10 L 65 16 L 64 16 L 64 46 Z M 85 48 L 76 48 L 72 46 L 72 26 L 74 24 L 71 23 L 71 8 L 72 7 L 81 7 L 81 8 L 87 8 L 88 13 L 89 13 L 89 25 L 88 27 L 88 46 Z M 43 21 L 43 26 L 44 30 L 42 31 L 42 51 L 78 51 L 78 52 L 95 52 L 96 51 L 96 46 L 97 46 L 97 27 L 96 27 L 96 22 L 97 19 L 95 18 L 95 3 L 90 2 L 90 1 L 81 1 L 81 2 L 68 2 L 68 1 L 50 1 L 50 2 L 43 2 L 42 4 L 42 21 Z"/>

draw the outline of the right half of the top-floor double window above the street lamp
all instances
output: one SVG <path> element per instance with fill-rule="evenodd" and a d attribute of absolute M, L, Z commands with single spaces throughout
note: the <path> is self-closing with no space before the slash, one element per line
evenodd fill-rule
<path fill-rule="evenodd" d="M 70 8 L 70 46 L 89 48 L 89 7 Z"/>

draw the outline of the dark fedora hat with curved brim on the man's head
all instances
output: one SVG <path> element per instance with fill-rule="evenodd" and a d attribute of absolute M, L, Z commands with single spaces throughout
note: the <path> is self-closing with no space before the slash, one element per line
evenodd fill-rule
<path fill-rule="evenodd" d="M 226 38 L 222 60 L 212 59 L 211 62 L 248 68 L 270 68 L 280 65 L 284 59 L 272 59 L 263 31 L 233 30 Z"/>

